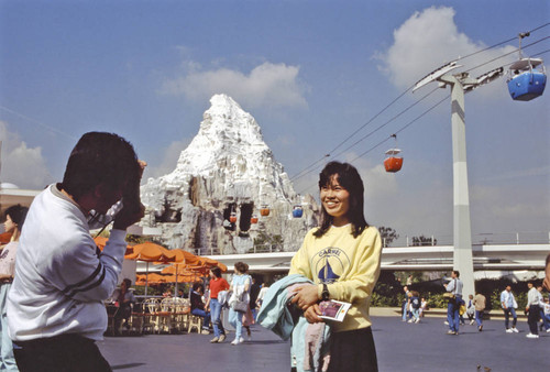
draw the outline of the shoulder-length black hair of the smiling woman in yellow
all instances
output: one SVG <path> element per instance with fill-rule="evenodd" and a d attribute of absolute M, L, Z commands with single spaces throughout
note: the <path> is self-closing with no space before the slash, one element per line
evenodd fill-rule
<path fill-rule="evenodd" d="M 353 238 L 358 238 L 369 227 L 363 215 L 364 186 L 358 169 L 349 163 L 330 162 L 319 174 L 319 189 L 330 186 L 332 178 L 337 177 L 340 186 L 350 193 L 350 210 L 348 217 L 352 225 Z M 317 238 L 322 237 L 332 226 L 333 218 L 321 204 L 321 226 L 314 232 Z"/>

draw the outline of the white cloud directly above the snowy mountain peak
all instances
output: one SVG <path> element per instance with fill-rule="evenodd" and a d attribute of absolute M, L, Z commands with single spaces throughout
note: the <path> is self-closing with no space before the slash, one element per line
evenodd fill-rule
<path fill-rule="evenodd" d="M 307 107 L 307 88 L 298 79 L 299 67 L 263 63 L 249 75 L 229 68 L 202 70 L 194 62 L 185 62 L 183 76 L 167 79 L 164 94 L 184 95 L 196 101 L 208 100 L 215 94 L 227 94 L 243 107 Z"/>

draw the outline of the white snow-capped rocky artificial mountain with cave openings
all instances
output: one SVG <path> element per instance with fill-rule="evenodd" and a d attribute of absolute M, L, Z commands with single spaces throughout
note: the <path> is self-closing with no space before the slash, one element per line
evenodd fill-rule
<path fill-rule="evenodd" d="M 226 95 L 210 103 L 174 172 L 141 187 L 141 225 L 199 254 L 296 251 L 317 225 L 315 199 L 295 193 L 250 113 Z"/>

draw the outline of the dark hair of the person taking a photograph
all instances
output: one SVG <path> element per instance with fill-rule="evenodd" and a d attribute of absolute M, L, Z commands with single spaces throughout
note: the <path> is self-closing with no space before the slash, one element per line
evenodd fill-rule
<path fill-rule="evenodd" d="M 114 133 L 89 132 L 70 152 L 62 187 L 78 201 L 100 184 L 114 190 L 139 177 L 140 165 L 130 142 Z"/>

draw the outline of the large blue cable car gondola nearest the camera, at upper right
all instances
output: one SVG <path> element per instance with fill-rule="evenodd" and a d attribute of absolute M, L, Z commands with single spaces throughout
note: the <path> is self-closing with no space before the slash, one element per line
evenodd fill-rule
<path fill-rule="evenodd" d="M 520 33 L 519 61 L 514 62 L 508 69 L 508 91 L 516 101 L 530 101 L 542 96 L 547 84 L 546 68 L 542 58 L 524 58 L 521 55 L 521 39 L 529 33 Z"/>

